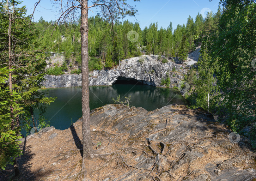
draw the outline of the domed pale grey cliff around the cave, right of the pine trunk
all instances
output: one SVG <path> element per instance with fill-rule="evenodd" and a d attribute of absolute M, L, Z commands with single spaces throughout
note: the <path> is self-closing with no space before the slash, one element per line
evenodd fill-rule
<path fill-rule="evenodd" d="M 143 63 L 139 59 L 143 58 Z M 178 86 L 183 80 L 186 69 L 181 64 L 169 60 L 168 63 L 157 61 L 157 56 L 141 56 L 129 58 L 121 62 L 118 69 L 94 70 L 89 79 L 89 85 L 108 86 L 119 80 L 136 80 L 143 84 L 161 87 L 161 79 L 169 73 L 170 87 Z"/>

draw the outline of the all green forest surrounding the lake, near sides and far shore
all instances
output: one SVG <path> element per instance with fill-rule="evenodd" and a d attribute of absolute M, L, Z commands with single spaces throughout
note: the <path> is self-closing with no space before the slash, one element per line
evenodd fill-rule
<path fill-rule="evenodd" d="M 89 17 L 88 70 L 111 69 L 122 59 L 140 56 L 142 51 L 183 61 L 189 51 L 201 45 L 197 67 L 189 69 L 184 80 L 190 85 L 186 94 L 190 106 L 215 114 L 217 121 L 249 137 L 255 148 L 256 3 L 220 3 L 223 9 L 219 7 L 215 14 L 203 18 L 198 13 L 195 20 L 189 16 L 186 25 L 177 25 L 174 30 L 171 22 L 167 29 L 159 28 L 156 22 L 141 30 L 138 23 L 112 24 L 98 15 Z M 47 73 L 47 52 L 64 52 L 66 59 L 75 58 L 82 66 L 81 21 L 55 24 L 43 17 L 35 23 L 30 20 L 19 1 L 0 2 L 0 167 L 14 164 L 15 173 L 15 158 L 21 155 L 17 141 L 21 128 L 29 132 L 47 126 L 42 115 L 55 99 L 40 92 L 40 82 Z M 130 39 L 136 41 L 127 38 L 131 31 L 136 33 L 131 33 Z M 60 71 L 64 69 L 67 63 L 60 66 Z M 169 84 L 167 77 L 163 84 Z M 40 111 L 39 118 L 35 109 Z"/>

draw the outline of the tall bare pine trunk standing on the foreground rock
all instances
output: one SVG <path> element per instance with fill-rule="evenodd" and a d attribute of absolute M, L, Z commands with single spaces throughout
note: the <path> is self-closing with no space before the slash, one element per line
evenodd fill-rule
<path fill-rule="evenodd" d="M 83 161 L 82 175 L 86 177 L 85 159 L 93 158 L 93 148 L 90 133 L 90 108 L 89 108 L 89 74 L 88 74 L 88 0 L 81 1 L 81 26 L 82 38 L 82 135 L 83 135 Z"/>

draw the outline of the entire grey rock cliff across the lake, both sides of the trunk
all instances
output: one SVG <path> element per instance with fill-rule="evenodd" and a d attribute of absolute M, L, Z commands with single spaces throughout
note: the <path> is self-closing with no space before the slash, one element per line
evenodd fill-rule
<path fill-rule="evenodd" d="M 143 58 L 143 63 L 139 59 Z M 174 58 L 177 62 L 177 59 Z M 160 85 L 161 79 L 169 73 L 170 87 L 178 86 L 186 74 L 185 66 L 174 63 L 157 61 L 157 56 L 142 56 L 121 61 L 120 67 L 111 70 L 94 70 L 89 77 L 89 86 L 110 86 L 117 80 L 136 80 L 155 87 Z M 81 75 L 47 75 L 43 87 L 72 87 L 82 85 Z"/>

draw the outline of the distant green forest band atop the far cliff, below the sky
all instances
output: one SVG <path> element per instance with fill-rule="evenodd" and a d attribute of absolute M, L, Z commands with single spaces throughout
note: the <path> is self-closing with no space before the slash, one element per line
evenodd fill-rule
<path fill-rule="evenodd" d="M 200 44 L 203 36 L 216 29 L 220 14 L 219 7 L 216 14 L 212 15 L 211 12 L 207 14 L 207 18 L 203 18 L 199 13 L 195 20 L 189 16 L 186 25 L 178 24 L 174 30 L 172 22 L 167 29 L 159 28 L 156 22 L 142 30 L 137 22 L 116 21 L 112 25 L 98 15 L 91 16 L 88 18 L 88 51 L 89 56 L 95 57 L 98 61 L 90 60 L 89 69 L 90 71 L 110 69 L 114 65 L 119 65 L 123 59 L 141 56 L 142 51 L 147 55 L 180 57 L 183 54 L 182 57 L 186 57 L 188 52 L 195 50 Z M 40 34 L 41 48 L 58 53 L 64 52 L 66 60 L 74 57 L 78 66 L 81 67 L 80 23 L 58 24 L 53 33 L 52 24 L 54 24 L 53 21 L 47 22 L 41 17 L 34 25 Z M 131 34 L 131 39 L 136 38 L 135 41 L 129 41 L 129 37 L 127 38 L 131 31 L 136 32 Z M 52 72 L 48 73 L 52 74 Z"/>

